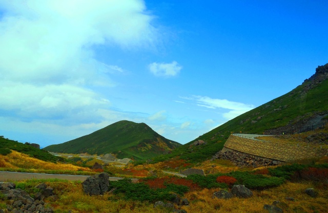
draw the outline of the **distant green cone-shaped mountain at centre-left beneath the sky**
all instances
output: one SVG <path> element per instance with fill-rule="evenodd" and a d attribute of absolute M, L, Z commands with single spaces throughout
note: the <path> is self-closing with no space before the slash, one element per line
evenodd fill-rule
<path fill-rule="evenodd" d="M 115 154 L 117 158 L 148 159 L 181 144 L 162 137 L 146 123 L 118 121 L 89 135 L 44 148 L 57 153 Z"/>

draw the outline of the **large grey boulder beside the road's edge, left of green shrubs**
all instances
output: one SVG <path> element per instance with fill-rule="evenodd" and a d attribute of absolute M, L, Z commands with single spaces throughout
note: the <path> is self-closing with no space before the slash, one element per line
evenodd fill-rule
<path fill-rule="evenodd" d="M 109 175 L 100 173 L 88 177 L 83 183 L 84 193 L 88 195 L 104 195 L 109 188 Z"/>

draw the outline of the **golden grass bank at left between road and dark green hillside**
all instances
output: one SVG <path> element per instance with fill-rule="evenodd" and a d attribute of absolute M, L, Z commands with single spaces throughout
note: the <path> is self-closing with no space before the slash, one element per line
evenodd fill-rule
<path fill-rule="evenodd" d="M 26 168 L 26 169 L 45 169 L 45 170 L 70 170 L 70 171 L 91 171 L 89 168 L 75 166 L 72 164 L 52 163 L 31 158 L 28 155 L 12 151 L 9 155 L 1 156 L 1 167 L 5 168 Z"/>

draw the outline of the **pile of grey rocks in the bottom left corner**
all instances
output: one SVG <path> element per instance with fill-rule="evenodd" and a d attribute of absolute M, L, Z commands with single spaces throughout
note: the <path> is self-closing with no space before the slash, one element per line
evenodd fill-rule
<path fill-rule="evenodd" d="M 0 193 L 8 200 L 7 208 L 3 209 L 3 212 L 52 213 L 53 210 L 51 208 L 46 208 L 46 203 L 43 200 L 45 197 L 48 197 L 47 193 L 49 193 L 49 190 L 46 190 L 47 188 L 51 189 L 52 194 L 52 188 L 43 184 L 42 187 L 39 188 L 40 193 L 34 195 L 34 198 L 32 198 L 25 190 L 16 188 L 14 183 L 0 183 Z"/>

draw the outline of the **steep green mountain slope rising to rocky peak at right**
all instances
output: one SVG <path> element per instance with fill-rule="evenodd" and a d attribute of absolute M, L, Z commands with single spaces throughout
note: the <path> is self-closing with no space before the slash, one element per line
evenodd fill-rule
<path fill-rule="evenodd" d="M 154 162 L 170 158 L 200 162 L 210 159 L 222 149 L 232 132 L 249 134 L 294 134 L 306 126 L 328 122 L 328 63 L 318 66 L 316 73 L 292 90 L 272 101 L 244 113 L 184 144 L 169 155 L 161 155 Z M 202 140 L 203 145 L 193 145 Z M 178 156 L 178 157 L 177 157 Z"/>

